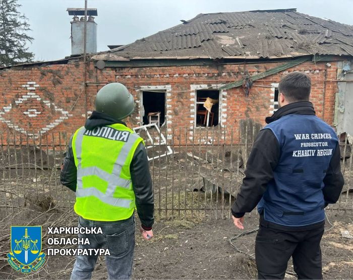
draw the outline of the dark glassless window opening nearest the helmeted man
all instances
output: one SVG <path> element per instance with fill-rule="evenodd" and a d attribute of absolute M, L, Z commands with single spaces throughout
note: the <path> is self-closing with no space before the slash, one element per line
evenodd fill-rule
<path fill-rule="evenodd" d="M 162 126 L 165 121 L 165 91 L 142 92 L 141 116 L 143 125 Z"/>

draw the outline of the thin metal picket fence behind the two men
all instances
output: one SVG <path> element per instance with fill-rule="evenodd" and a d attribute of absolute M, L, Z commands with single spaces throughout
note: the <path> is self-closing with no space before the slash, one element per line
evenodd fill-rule
<path fill-rule="evenodd" d="M 145 131 L 154 185 L 155 216 L 160 219 L 230 217 L 259 127 L 178 128 Z M 0 131 L 0 218 L 21 209 L 70 209 L 75 194 L 60 183 L 60 169 L 71 133 L 26 135 Z M 167 140 L 171 148 L 159 145 Z M 353 210 L 352 145 L 341 145 L 345 186 L 334 211 Z M 165 155 L 169 151 L 170 154 Z"/>

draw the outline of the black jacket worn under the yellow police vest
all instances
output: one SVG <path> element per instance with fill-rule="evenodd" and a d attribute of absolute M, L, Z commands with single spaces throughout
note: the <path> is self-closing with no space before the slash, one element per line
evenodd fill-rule
<path fill-rule="evenodd" d="M 116 121 L 114 118 L 106 114 L 93 111 L 91 117 L 86 121 L 85 128 L 92 130 L 98 126 L 107 126 L 117 123 L 126 125 L 124 122 Z M 147 151 L 143 143 L 140 143 L 137 146 L 130 164 L 130 173 L 135 193 L 137 213 L 140 217 L 142 227 L 145 230 L 151 230 L 154 222 L 153 187 L 149 171 Z M 77 169 L 72 150 L 72 137 L 62 166 L 60 181 L 64 186 L 76 191 Z"/>

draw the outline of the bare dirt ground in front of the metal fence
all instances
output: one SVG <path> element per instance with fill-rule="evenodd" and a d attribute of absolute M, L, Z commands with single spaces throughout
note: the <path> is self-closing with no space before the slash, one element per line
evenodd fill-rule
<path fill-rule="evenodd" d="M 56 214 L 48 212 L 39 217 L 36 222 L 46 224 L 48 218 L 53 219 L 54 215 Z M 77 222 L 77 218 L 72 215 L 71 211 L 57 215 L 62 216 L 60 220 L 57 220 L 62 226 L 73 225 Z M 25 216 L 23 214 L 21 217 Z M 348 214 L 330 212 L 328 212 L 328 218 L 333 228 L 326 222 L 328 231 L 324 234 L 321 246 L 324 278 L 351 279 L 353 278 L 353 240 L 342 238 L 341 230 L 353 232 L 352 218 Z M 256 214 L 246 216 L 245 228 L 247 230 L 254 229 L 257 225 L 258 216 Z M 58 225 L 55 224 L 55 226 Z M 1 230 L 1 236 L 5 232 L 9 233 L 9 229 Z M 144 241 L 139 234 L 136 234 L 133 278 L 254 278 L 257 273 L 255 263 L 244 254 L 236 252 L 229 244 L 229 239 L 239 233 L 241 231 L 234 228 L 229 219 L 204 222 L 177 219 L 156 221 L 152 241 Z M 253 254 L 255 236 L 254 233 L 240 237 L 236 241 L 237 247 Z M 45 244 L 47 238 L 47 235 L 43 236 L 45 253 L 49 247 Z M 8 239 L 0 241 L 0 278 L 68 279 L 70 277 L 74 257 L 49 256 L 47 263 L 40 271 L 25 276 L 8 265 L 4 254 L 9 249 Z M 292 270 L 290 264 L 288 270 Z M 294 278 L 289 274 L 286 274 L 286 277 Z M 107 278 L 103 257 L 98 259 L 92 278 Z"/>

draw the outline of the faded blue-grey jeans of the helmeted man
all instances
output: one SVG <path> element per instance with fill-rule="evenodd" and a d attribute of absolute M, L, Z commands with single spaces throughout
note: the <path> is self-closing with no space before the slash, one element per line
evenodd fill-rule
<path fill-rule="evenodd" d="M 105 256 L 109 279 L 130 279 L 135 248 L 135 217 L 132 215 L 120 221 L 94 221 L 79 217 L 79 227 L 99 227 L 103 234 L 79 234 L 88 238 L 89 245 L 79 248 L 107 248 L 110 256 Z M 71 279 L 90 279 L 98 256 L 77 256 Z"/>

